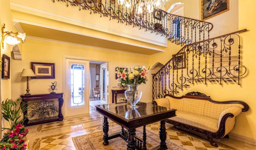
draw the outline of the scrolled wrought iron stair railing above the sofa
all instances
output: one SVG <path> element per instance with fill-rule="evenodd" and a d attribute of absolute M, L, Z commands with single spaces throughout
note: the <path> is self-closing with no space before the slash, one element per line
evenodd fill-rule
<path fill-rule="evenodd" d="M 241 64 L 238 33 L 245 31 L 183 46 L 157 73 L 152 74 L 152 99 L 177 94 L 194 83 L 240 84 L 246 68 Z"/>

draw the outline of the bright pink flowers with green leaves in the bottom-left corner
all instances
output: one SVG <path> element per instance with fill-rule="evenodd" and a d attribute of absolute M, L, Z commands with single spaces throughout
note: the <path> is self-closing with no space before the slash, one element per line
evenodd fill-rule
<path fill-rule="evenodd" d="M 0 150 L 26 150 L 28 132 L 29 128 L 25 129 L 22 124 L 18 124 L 13 130 L 7 130 L 0 142 Z"/>

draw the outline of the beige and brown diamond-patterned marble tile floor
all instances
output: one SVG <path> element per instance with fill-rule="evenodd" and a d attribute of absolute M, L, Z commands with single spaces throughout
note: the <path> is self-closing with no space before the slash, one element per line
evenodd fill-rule
<path fill-rule="evenodd" d="M 32 150 L 75 150 L 72 137 L 102 130 L 103 117 L 91 110 L 90 114 L 66 117 L 63 121 L 55 121 L 29 126 L 29 145 Z M 158 134 L 160 123 L 153 123 L 146 126 L 146 129 Z M 116 127 L 118 124 L 110 121 L 109 127 Z M 210 143 L 198 136 L 191 135 L 182 130 L 166 124 L 167 139 L 183 146 L 187 150 L 255 150 L 256 147 L 234 139 L 221 139 L 219 147 L 212 147 Z M 222 144 L 221 144 L 222 143 Z"/>

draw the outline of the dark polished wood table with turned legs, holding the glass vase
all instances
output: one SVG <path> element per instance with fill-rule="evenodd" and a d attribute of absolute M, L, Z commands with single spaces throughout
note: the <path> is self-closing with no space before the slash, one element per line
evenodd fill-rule
<path fill-rule="evenodd" d="M 165 119 L 176 116 L 176 110 L 143 102 L 137 103 L 139 108 L 136 109 L 128 108 L 128 105 L 127 102 L 120 102 L 96 106 L 96 111 L 104 115 L 103 144 L 108 145 L 108 140 L 121 137 L 127 141 L 127 150 L 146 150 L 146 125 L 160 121 L 160 145 L 152 150 L 166 150 Z M 108 119 L 119 124 L 122 130 L 108 135 Z M 143 140 L 136 136 L 136 128 L 141 126 L 143 126 Z"/>

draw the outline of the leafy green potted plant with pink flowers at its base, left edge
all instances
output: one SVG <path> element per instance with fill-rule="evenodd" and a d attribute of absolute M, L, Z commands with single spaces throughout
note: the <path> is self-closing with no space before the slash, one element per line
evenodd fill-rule
<path fill-rule="evenodd" d="M 29 129 L 25 129 L 23 121 L 28 115 L 22 118 L 22 114 L 27 111 L 28 107 L 21 101 L 22 99 L 17 99 L 17 101 L 6 99 L 2 102 L 2 115 L 9 122 L 9 128 L 2 128 L 2 131 L 6 130 L 6 132 L 0 140 L 0 150 L 27 150 Z"/>

